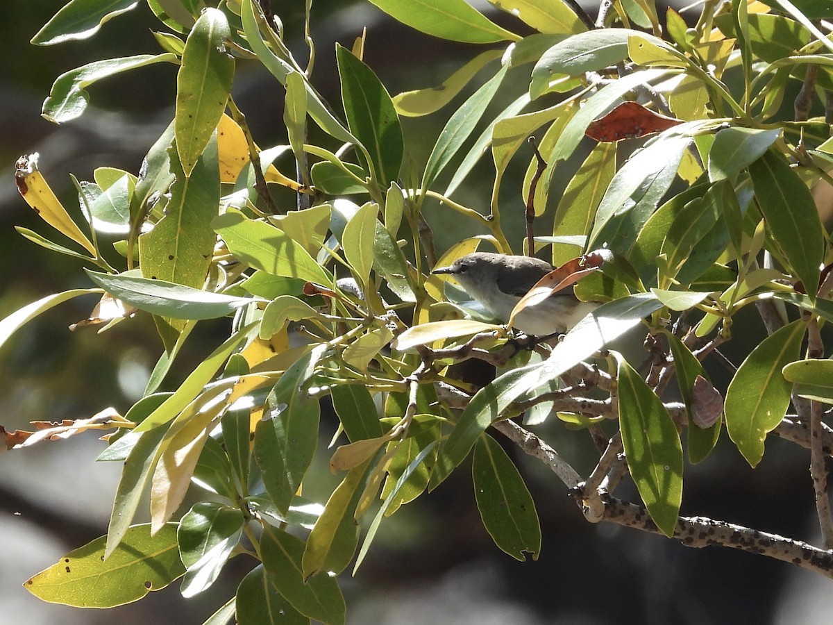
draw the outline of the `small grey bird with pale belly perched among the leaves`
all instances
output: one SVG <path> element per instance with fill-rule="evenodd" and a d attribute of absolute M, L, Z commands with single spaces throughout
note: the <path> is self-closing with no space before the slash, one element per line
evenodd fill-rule
<path fill-rule="evenodd" d="M 471 298 L 506 323 L 521 298 L 552 270 L 550 263 L 538 258 L 475 252 L 431 273 L 453 276 Z M 567 287 L 541 303 L 524 308 L 516 315 L 513 326 L 537 337 L 566 333 L 597 306 L 593 302 L 580 302 L 573 288 Z"/>

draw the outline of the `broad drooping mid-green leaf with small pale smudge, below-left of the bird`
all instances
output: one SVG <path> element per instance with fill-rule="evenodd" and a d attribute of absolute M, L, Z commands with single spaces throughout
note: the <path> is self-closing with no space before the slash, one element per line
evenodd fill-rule
<path fill-rule="evenodd" d="M 307 384 L 326 348 L 324 344 L 312 348 L 287 369 L 270 393 L 270 412 L 255 429 L 255 460 L 267 493 L 283 513 L 301 486 L 318 443 L 321 407 L 317 398 L 307 394 Z"/>

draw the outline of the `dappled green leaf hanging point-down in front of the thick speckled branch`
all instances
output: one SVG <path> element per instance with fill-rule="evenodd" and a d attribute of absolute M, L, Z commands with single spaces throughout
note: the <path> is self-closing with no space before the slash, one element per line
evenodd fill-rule
<path fill-rule="evenodd" d="M 674 535 L 682 501 L 682 444 L 656 393 L 624 358 L 618 363 L 619 427 L 628 470 L 651 519 Z"/>

